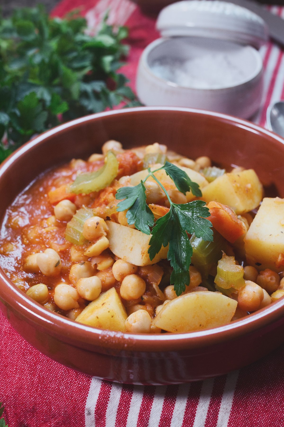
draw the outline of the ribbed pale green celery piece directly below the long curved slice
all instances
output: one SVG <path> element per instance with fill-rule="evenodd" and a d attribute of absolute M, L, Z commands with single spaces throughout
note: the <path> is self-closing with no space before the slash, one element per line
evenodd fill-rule
<path fill-rule="evenodd" d="M 82 245 L 86 239 L 83 236 L 84 222 L 94 216 L 92 209 L 81 208 L 79 209 L 71 221 L 67 222 L 65 239 L 73 245 Z"/>

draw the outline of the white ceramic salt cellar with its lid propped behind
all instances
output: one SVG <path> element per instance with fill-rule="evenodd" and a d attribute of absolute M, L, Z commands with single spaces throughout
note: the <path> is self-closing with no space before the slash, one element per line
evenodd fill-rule
<path fill-rule="evenodd" d="M 232 3 L 189 0 L 165 7 L 156 27 L 162 37 L 139 61 L 143 104 L 255 114 L 264 87 L 258 49 L 268 38 L 262 18 Z"/>

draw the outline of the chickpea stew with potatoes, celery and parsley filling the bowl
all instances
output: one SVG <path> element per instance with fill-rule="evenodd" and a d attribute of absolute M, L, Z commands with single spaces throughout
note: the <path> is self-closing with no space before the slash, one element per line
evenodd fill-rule
<path fill-rule="evenodd" d="M 252 169 L 110 140 L 17 196 L 0 265 L 47 310 L 95 328 L 214 328 L 284 296 L 284 199 L 263 196 Z"/>

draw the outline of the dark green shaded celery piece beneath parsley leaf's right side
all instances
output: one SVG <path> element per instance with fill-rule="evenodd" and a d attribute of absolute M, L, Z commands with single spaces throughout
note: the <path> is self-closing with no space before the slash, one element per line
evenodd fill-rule
<path fill-rule="evenodd" d="M 193 249 L 191 264 L 207 278 L 211 267 L 222 257 L 222 249 L 227 246 L 226 240 L 216 230 L 213 231 L 213 241 L 206 242 L 201 237 L 192 234 L 190 243 Z"/>

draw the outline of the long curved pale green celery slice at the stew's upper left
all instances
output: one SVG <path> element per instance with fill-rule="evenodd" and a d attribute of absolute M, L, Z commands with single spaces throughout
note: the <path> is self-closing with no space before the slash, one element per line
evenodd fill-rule
<path fill-rule="evenodd" d="M 68 191 L 75 194 L 89 194 L 107 187 L 116 178 L 119 164 L 113 152 L 107 152 L 106 163 L 96 172 L 82 173 L 78 175 Z"/>

